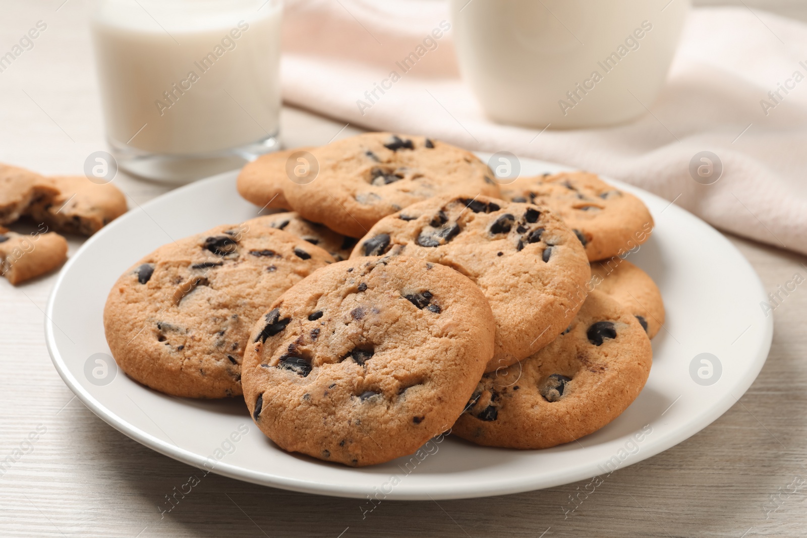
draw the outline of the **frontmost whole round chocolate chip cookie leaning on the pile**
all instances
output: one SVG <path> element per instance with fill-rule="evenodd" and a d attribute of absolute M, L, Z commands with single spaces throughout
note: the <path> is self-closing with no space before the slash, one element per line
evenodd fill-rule
<path fill-rule="evenodd" d="M 473 282 L 405 256 L 360 257 L 299 282 L 255 324 L 244 397 L 281 448 L 372 465 L 449 429 L 492 353 Z"/>

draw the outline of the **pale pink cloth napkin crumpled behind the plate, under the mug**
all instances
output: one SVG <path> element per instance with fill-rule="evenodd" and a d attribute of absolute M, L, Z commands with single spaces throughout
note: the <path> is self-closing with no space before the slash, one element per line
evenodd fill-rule
<path fill-rule="evenodd" d="M 445 2 L 288 0 L 284 16 L 286 102 L 374 130 L 601 173 L 723 230 L 807 253 L 807 80 L 793 81 L 797 71 L 807 77 L 804 23 L 746 8 L 692 10 L 650 114 L 541 132 L 485 117 L 459 77 Z M 415 65 L 402 63 L 423 51 Z M 795 88 L 774 102 L 768 92 L 785 82 Z M 701 151 L 722 162 L 713 185 L 689 173 Z"/>

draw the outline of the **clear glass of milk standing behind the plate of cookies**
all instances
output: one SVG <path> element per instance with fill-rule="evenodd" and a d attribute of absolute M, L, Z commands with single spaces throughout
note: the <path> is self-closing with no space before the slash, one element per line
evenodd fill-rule
<path fill-rule="evenodd" d="M 280 0 L 102 0 L 92 33 L 119 168 L 190 181 L 278 148 Z"/>

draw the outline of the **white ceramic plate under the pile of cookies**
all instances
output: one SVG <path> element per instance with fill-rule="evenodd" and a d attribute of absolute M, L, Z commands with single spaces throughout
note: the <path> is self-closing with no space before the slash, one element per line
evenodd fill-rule
<path fill-rule="evenodd" d="M 560 169 L 521 160 L 523 174 Z M 174 190 L 98 232 L 62 269 L 45 322 L 53 364 L 87 407 L 157 452 L 197 467 L 207 462 L 215 473 L 288 490 L 399 499 L 516 493 L 603 476 L 717 419 L 751 386 L 771 345 L 772 318 L 759 307 L 763 287 L 737 249 L 678 206 L 613 181 L 650 207 L 654 233 L 629 259 L 654 278 L 667 307 L 650 379 L 624 414 L 579 442 L 547 450 L 483 448 L 447 436 L 416 457 L 362 469 L 285 453 L 254 426 L 243 400 L 166 396 L 115 374 L 114 363 L 104 377 L 96 362 L 103 356 L 93 357 L 110 352 L 102 311 L 123 271 L 170 240 L 257 215 L 236 193 L 235 178 L 226 173 Z M 712 354 L 711 372 L 703 357 L 691 368 L 701 353 Z"/>

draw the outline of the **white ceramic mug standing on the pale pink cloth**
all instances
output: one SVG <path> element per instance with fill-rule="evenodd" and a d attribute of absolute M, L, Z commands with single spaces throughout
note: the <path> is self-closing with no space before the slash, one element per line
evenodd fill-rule
<path fill-rule="evenodd" d="M 487 115 L 600 127 L 646 112 L 689 0 L 451 0 L 460 71 Z"/>

